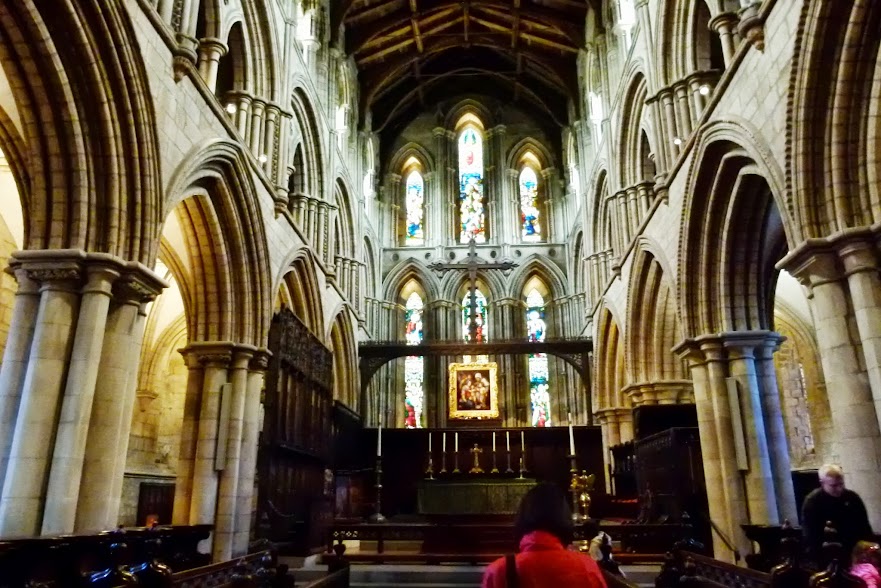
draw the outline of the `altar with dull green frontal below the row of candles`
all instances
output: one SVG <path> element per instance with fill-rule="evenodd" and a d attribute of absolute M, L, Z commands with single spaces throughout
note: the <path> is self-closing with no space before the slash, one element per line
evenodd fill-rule
<path fill-rule="evenodd" d="M 532 478 L 422 480 L 417 486 L 420 515 L 514 515 L 535 486 Z"/>

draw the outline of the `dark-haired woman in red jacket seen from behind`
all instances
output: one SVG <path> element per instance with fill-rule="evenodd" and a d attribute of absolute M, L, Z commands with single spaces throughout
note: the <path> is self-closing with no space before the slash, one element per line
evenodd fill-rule
<path fill-rule="evenodd" d="M 504 557 L 494 561 L 483 574 L 483 588 L 606 588 L 596 562 L 566 548 L 574 532 L 572 511 L 557 486 L 539 484 L 526 493 L 514 532 L 520 552 L 513 566 Z"/>

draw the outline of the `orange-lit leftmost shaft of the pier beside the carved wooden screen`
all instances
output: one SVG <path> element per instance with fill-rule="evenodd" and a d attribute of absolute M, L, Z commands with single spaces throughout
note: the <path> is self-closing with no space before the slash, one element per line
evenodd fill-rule
<path fill-rule="evenodd" d="M 199 434 L 199 407 L 202 406 L 202 382 L 205 380 L 205 374 L 196 351 L 190 348 L 182 349 L 181 355 L 187 362 L 187 392 L 184 397 L 177 479 L 174 487 L 174 512 L 171 520 L 175 525 L 189 525 L 190 503 L 193 499 L 193 467 Z"/>

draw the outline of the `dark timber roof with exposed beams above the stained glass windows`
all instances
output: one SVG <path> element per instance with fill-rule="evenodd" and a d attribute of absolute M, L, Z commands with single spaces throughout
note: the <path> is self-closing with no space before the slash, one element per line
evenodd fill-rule
<path fill-rule="evenodd" d="M 594 2 L 341 0 L 332 16 L 345 25 L 375 131 L 394 133 L 463 93 L 513 102 L 559 127 L 577 96 L 576 57 Z"/>

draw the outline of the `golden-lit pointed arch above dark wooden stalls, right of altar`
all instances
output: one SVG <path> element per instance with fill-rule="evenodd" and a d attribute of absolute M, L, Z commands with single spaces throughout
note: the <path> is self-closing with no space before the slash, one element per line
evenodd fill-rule
<path fill-rule="evenodd" d="M 634 406 L 693 400 L 690 375 L 673 348 L 682 340 L 674 276 L 661 249 L 645 237 L 630 272 L 627 309 L 628 388 Z"/>

